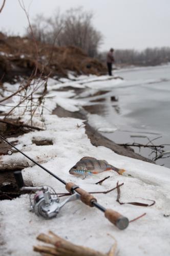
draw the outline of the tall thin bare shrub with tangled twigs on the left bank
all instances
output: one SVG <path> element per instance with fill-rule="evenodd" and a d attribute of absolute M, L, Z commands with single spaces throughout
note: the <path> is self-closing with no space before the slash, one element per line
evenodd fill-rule
<path fill-rule="evenodd" d="M 6 101 L 6 100 L 12 99 L 14 96 L 19 96 L 20 98 L 19 98 L 18 102 L 16 103 L 16 105 L 14 105 L 14 106 L 11 105 L 11 109 L 5 113 L 5 118 L 8 117 L 9 115 L 13 114 L 15 109 L 17 109 L 17 111 L 19 111 L 20 117 L 24 116 L 26 114 L 26 112 L 28 112 L 30 114 L 29 121 L 31 122 L 31 125 L 21 124 L 20 126 L 28 127 L 28 128 L 36 129 L 36 130 L 41 130 L 41 129 L 37 129 L 37 127 L 32 125 L 33 124 L 32 119 L 37 110 L 39 110 L 39 113 L 41 113 L 40 116 L 42 116 L 42 114 L 43 114 L 43 110 L 45 108 L 44 96 L 47 93 L 47 80 L 48 80 L 51 72 L 49 73 L 49 75 L 47 75 L 45 77 L 42 76 L 42 74 L 44 74 L 44 66 L 41 65 L 40 68 L 38 66 L 38 47 L 37 47 L 37 42 L 36 42 L 35 36 L 33 34 L 33 29 L 31 27 L 29 13 L 26 10 L 23 0 L 18 0 L 18 3 L 27 16 L 29 28 L 30 28 L 30 31 L 32 34 L 32 39 L 33 39 L 33 42 L 35 45 L 35 56 L 36 56 L 35 61 L 34 61 L 35 67 L 32 71 L 32 74 L 28 78 L 28 80 L 26 82 L 24 81 L 23 83 L 21 83 L 17 91 L 15 91 L 12 94 L 10 94 L 9 96 L 1 99 L 0 103 L 3 101 Z M 38 78 L 37 78 L 38 71 L 40 72 L 40 74 L 38 74 Z M 44 91 L 42 91 L 41 95 L 39 97 L 37 97 L 37 99 L 35 99 L 34 94 L 39 89 L 41 89 L 43 87 L 44 87 Z M 22 103 L 24 103 L 25 106 Z M 5 105 L 5 106 L 10 107 L 9 105 Z M 20 108 L 22 108 L 22 110 Z M 43 118 L 42 118 L 42 120 L 43 120 Z M 15 125 L 15 124 L 12 124 L 12 125 Z M 17 125 L 15 125 L 15 126 L 17 126 Z"/>

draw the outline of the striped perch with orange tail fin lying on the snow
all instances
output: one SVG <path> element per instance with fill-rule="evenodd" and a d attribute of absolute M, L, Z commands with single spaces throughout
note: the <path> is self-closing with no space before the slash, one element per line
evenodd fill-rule
<path fill-rule="evenodd" d="M 118 174 L 125 172 L 124 169 L 118 169 L 105 160 L 97 160 L 93 157 L 83 157 L 69 170 L 69 173 L 86 177 L 92 174 L 102 173 L 106 170 L 114 170 Z"/>

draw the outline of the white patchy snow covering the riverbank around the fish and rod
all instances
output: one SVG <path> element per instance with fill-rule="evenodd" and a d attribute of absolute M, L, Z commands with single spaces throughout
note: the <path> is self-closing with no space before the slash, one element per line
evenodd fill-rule
<path fill-rule="evenodd" d="M 98 80 L 98 77 L 81 76 L 75 79 L 80 82 L 90 79 Z M 107 87 L 116 86 L 118 82 L 121 83 L 122 81 L 118 81 L 118 79 L 105 81 Z M 65 83 L 68 84 L 68 80 L 62 79 L 62 86 Z M 39 255 L 33 252 L 33 245 L 38 244 L 36 241 L 37 235 L 40 232 L 47 233 L 48 230 L 52 230 L 63 238 L 67 237 L 70 242 L 103 252 L 109 251 L 111 245 L 114 244 L 114 237 L 117 241 L 117 252 L 121 256 L 169 255 L 170 217 L 164 217 L 164 215 L 170 214 L 170 170 L 163 166 L 117 155 L 109 148 L 103 146 L 95 147 L 91 144 L 85 133 L 83 120 L 59 118 L 56 115 L 52 115 L 52 110 L 56 107 L 56 104 L 69 111 L 77 111 L 83 104 L 78 99 L 70 98 L 74 96 L 72 91 L 54 91 L 53 86 L 57 84 L 60 83 L 50 80 L 49 94 L 46 95 L 45 99 L 45 106 L 48 109 L 44 113 L 46 130 L 30 132 L 19 136 L 18 147 L 61 179 L 67 182 L 72 181 L 87 191 L 108 190 L 115 187 L 117 181 L 119 181 L 119 183 L 124 183 L 120 187 L 120 201 L 150 203 L 147 200 L 155 200 L 156 204 L 151 207 L 130 204 L 120 205 L 116 202 L 116 190 L 105 195 L 95 195 L 98 203 L 102 206 L 120 212 L 128 217 L 129 220 L 146 213 L 144 217 L 130 223 L 129 227 L 125 230 L 119 230 L 105 219 L 103 213 L 98 209 L 90 208 L 80 201 L 66 204 L 59 212 L 57 218 L 45 220 L 29 211 L 28 194 L 12 201 L 3 200 L 0 201 L 1 255 Z M 92 89 L 99 89 L 102 82 L 93 81 L 87 84 Z M 8 86 L 10 87 L 10 85 Z M 13 103 L 16 103 L 18 99 L 17 97 L 14 98 Z M 15 115 L 17 116 L 17 114 L 18 112 L 16 111 Z M 97 118 L 94 124 L 97 123 Z M 28 114 L 25 114 L 22 120 L 28 121 Z M 98 120 L 98 122 L 101 122 L 101 120 Z M 39 126 L 42 125 L 38 113 L 36 113 L 33 123 Z M 101 127 L 101 125 L 99 126 Z M 105 125 L 105 127 L 103 126 L 103 130 L 109 128 L 111 129 L 109 124 Z M 50 139 L 53 141 L 53 145 L 36 146 L 32 144 L 33 138 L 38 140 Z M 12 138 L 9 138 L 9 141 L 11 140 Z M 89 176 L 85 180 L 82 180 L 81 177 L 70 175 L 69 169 L 84 156 L 105 159 L 115 167 L 125 169 L 126 172 L 121 176 L 113 171 L 104 172 Z M 40 167 L 33 166 L 30 160 L 20 153 L 13 153 L 11 156 L 1 156 L 1 161 L 3 163 L 22 162 L 24 164 L 28 162 L 30 167 L 22 171 L 25 181 L 32 181 L 35 186 L 42 184 L 50 185 L 58 193 L 66 191 L 62 183 Z M 104 181 L 102 185 L 95 184 L 107 176 L 110 176 L 110 178 Z M 62 200 L 63 198 L 61 198 Z"/>

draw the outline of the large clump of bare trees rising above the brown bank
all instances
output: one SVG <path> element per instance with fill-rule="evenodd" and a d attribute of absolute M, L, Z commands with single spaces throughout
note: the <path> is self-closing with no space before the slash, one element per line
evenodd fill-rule
<path fill-rule="evenodd" d="M 36 16 L 32 29 L 37 40 L 53 44 L 56 34 L 62 27 L 55 45 L 79 47 L 94 57 L 102 42 L 102 35 L 93 27 L 92 19 L 93 13 L 85 12 L 81 7 L 70 9 L 65 14 L 60 14 L 58 10 L 51 18 Z M 27 36 L 30 36 L 30 31 Z"/>

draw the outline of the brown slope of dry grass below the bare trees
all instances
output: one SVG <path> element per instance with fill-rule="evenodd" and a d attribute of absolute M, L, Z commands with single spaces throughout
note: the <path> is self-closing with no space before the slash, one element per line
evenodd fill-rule
<path fill-rule="evenodd" d="M 107 72 L 106 67 L 97 59 L 90 58 L 81 49 L 69 47 L 52 47 L 37 42 L 38 73 L 59 77 L 67 76 L 67 72 L 75 74 L 101 75 Z M 19 36 L 6 37 L 0 33 L 0 78 L 7 81 L 15 76 L 29 76 L 35 68 L 36 49 L 34 42 Z"/>

